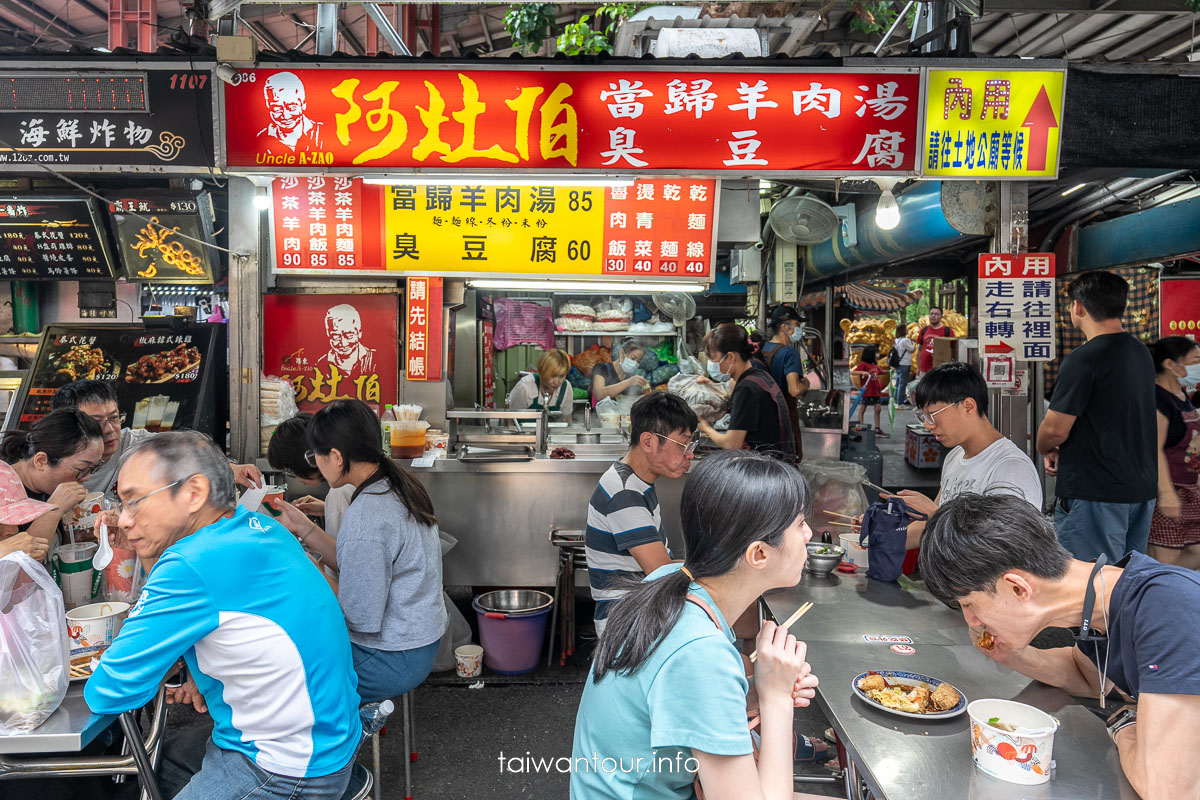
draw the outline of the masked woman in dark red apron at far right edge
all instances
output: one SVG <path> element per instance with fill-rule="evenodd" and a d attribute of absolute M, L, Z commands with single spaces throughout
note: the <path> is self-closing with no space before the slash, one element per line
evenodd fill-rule
<path fill-rule="evenodd" d="M 1150 345 L 1158 407 L 1158 503 L 1150 521 L 1150 554 L 1163 564 L 1200 569 L 1200 411 L 1187 391 L 1200 385 L 1200 344 L 1168 336 Z"/>

